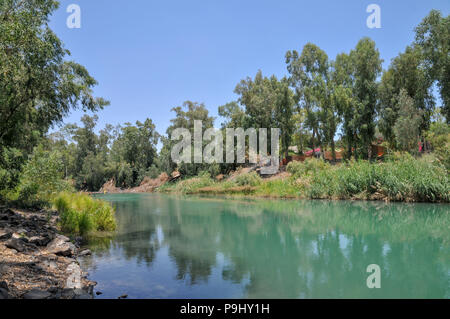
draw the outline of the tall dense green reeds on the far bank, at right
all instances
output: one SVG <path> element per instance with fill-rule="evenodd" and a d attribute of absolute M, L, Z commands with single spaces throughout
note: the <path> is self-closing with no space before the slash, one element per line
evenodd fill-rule
<path fill-rule="evenodd" d="M 337 166 L 313 159 L 291 163 L 287 170 L 311 199 L 450 201 L 448 170 L 431 155 L 400 154 L 384 163 L 351 161 Z"/>

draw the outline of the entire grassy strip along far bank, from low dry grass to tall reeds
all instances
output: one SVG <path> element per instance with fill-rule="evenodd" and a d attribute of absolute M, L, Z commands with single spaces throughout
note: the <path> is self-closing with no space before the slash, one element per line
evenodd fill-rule
<path fill-rule="evenodd" d="M 270 198 L 450 202 L 448 170 L 433 156 L 398 155 L 382 163 L 351 161 L 332 166 L 311 159 L 288 165 L 290 177 L 264 180 L 256 173 L 217 182 L 206 175 L 166 184 L 178 194 Z"/>

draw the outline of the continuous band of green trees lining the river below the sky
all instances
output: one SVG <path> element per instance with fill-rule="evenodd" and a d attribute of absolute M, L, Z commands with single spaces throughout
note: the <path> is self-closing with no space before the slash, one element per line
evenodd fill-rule
<path fill-rule="evenodd" d="M 173 163 L 174 129 L 193 131 L 194 120 L 203 121 L 204 129 L 214 125 L 206 106 L 192 101 L 172 109 L 175 116 L 166 135 L 156 131 L 151 119 L 106 125 L 98 131 L 97 115 L 85 115 L 81 126 L 68 124 L 49 134 L 71 110 L 95 113 L 109 104 L 93 95 L 96 80 L 70 61 L 70 52 L 48 26 L 57 7 L 53 0 L 0 0 L 2 197 L 11 190 L 38 188 L 35 175 L 26 173 L 36 171 L 33 165 L 89 191 L 97 191 L 110 179 L 126 188 L 139 185 L 146 176 L 175 169 L 187 176 L 205 171 L 216 176 L 236 168 Z M 284 156 L 297 145 L 300 152 L 321 147 L 335 157 L 340 147 L 347 158 L 371 159 L 370 146 L 378 136 L 391 149 L 412 153 L 419 141 L 431 139 L 448 161 L 450 17 L 433 10 L 415 33 L 415 41 L 384 71 L 379 50 L 369 38 L 334 60 L 312 43 L 301 52 L 289 51 L 285 77 L 258 71 L 237 84 L 237 99 L 218 108 L 222 129 L 280 128 Z"/>

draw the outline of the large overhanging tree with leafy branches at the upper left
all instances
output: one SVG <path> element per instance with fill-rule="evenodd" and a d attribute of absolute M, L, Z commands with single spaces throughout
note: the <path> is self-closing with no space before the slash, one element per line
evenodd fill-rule
<path fill-rule="evenodd" d="M 30 152 L 73 108 L 108 104 L 93 96 L 95 79 L 50 29 L 53 0 L 0 1 L 0 146 Z"/>

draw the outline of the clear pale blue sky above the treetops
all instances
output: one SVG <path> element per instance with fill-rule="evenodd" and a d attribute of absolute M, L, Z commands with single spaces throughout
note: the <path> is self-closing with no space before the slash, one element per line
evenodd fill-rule
<path fill-rule="evenodd" d="M 369 36 L 387 68 L 414 39 L 431 9 L 450 12 L 449 0 L 63 0 L 52 29 L 111 101 L 98 113 L 99 128 L 151 118 L 165 133 L 172 107 L 185 100 L 217 107 L 236 99 L 233 90 L 261 69 L 287 74 L 284 56 L 312 42 L 330 59 Z M 381 29 L 366 25 L 369 4 L 381 7 Z M 69 29 L 70 4 L 81 7 L 81 28 Z M 66 123 L 79 122 L 74 111 Z M 216 121 L 219 126 L 219 120 Z"/>

